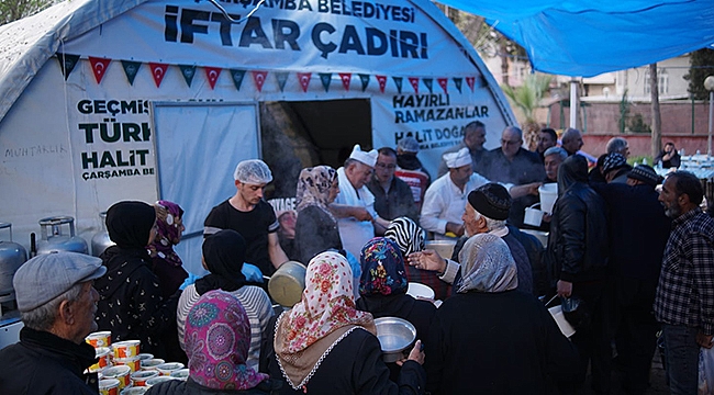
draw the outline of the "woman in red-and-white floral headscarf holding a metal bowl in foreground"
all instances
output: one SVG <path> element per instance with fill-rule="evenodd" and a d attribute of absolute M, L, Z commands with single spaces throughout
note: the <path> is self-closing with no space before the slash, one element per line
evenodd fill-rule
<path fill-rule="evenodd" d="M 372 316 L 355 308 L 352 286 L 345 257 L 313 258 L 302 300 L 266 337 L 261 371 L 286 381 L 281 394 L 423 394 L 421 341 L 402 365 L 400 384 L 391 382 Z"/>

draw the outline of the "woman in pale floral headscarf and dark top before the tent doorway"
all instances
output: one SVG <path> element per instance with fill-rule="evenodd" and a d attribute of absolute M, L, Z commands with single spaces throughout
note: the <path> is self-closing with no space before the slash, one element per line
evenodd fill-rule
<path fill-rule="evenodd" d="M 301 262 L 310 262 L 314 256 L 331 248 L 342 249 L 337 221 L 328 207 L 337 193 L 337 172 L 330 166 L 315 166 L 300 171 L 295 194 L 295 250 Z"/>

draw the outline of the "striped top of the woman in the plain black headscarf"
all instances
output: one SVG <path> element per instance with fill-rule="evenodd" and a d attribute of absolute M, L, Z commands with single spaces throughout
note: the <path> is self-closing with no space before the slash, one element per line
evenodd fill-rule
<path fill-rule="evenodd" d="M 243 308 L 245 308 L 250 321 L 250 349 L 248 349 L 248 358 L 246 364 L 248 368 L 258 370 L 258 358 L 260 357 L 260 339 L 263 331 L 268 327 L 268 320 L 272 317 L 272 305 L 268 294 L 263 289 L 255 285 L 244 285 L 238 290 L 231 292 L 238 298 Z M 176 324 L 178 326 L 178 337 L 181 349 L 186 351 L 183 343 L 183 334 L 186 330 L 186 318 L 189 311 L 199 301 L 201 295 L 196 291 L 193 284 L 189 285 L 181 293 L 178 307 L 176 309 Z"/>

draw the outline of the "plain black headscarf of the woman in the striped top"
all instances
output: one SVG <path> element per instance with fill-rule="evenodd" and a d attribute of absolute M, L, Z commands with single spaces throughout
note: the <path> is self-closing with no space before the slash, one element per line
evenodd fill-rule
<path fill-rule="evenodd" d="M 243 272 L 246 244 L 233 229 L 220 230 L 203 240 L 203 260 L 211 272 L 196 280 L 199 295 L 213 290 L 233 292 L 246 284 Z"/>

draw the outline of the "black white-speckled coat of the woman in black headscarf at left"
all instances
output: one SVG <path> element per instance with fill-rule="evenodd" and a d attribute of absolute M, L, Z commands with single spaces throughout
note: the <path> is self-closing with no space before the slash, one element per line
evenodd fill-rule
<path fill-rule="evenodd" d="M 159 337 L 175 329 L 180 292 L 164 301 L 158 278 L 145 250 L 109 247 L 101 259 L 107 274 L 94 281 L 99 292 L 97 324 L 111 330 L 112 341 L 141 340 L 142 352 L 165 358 Z M 174 335 L 178 336 L 178 335 Z"/>

